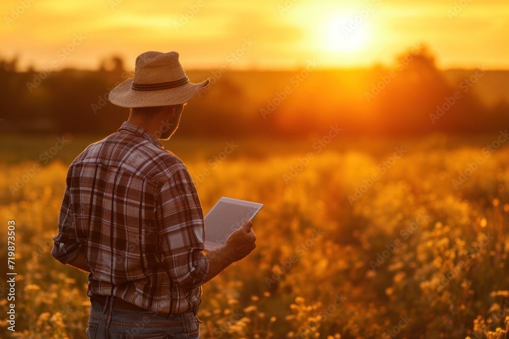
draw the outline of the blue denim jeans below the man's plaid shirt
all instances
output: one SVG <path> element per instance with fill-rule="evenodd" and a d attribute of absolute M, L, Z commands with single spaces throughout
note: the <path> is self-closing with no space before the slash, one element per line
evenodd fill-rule
<path fill-rule="evenodd" d="M 112 298 L 109 299 L 111 301 Z M 198 339 L 200 320 L 194 313 L 172 316 L 124 311 L 92 300 L 87 339 Z"/>

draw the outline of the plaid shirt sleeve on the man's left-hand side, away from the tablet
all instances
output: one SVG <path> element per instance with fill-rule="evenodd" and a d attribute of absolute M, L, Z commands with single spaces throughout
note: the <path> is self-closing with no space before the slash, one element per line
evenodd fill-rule
<path fill-rule="evenodd" d="M 82 244 L 76 239 L 74 217 L 69 187 L 66 186 L 64 199 L 60 208 L 59 234 L 53 236 L 51 255 L 63 264 L 76 258 Z"/>

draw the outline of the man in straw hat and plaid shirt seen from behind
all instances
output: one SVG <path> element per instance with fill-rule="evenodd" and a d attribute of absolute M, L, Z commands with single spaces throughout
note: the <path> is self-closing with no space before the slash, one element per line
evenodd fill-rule
<path fill-rule="evenodd" d="M 165 151 L 190 83 L 176 52 L 136 58 L 109 94 L 131 108 L 118 133 L 71 164 L 52 255 L 89 274 L 87 338 L 198 338 L 201 286 L 256 247 L 251 222 L 204 254 L 203 212 L 182 161 Z"/>

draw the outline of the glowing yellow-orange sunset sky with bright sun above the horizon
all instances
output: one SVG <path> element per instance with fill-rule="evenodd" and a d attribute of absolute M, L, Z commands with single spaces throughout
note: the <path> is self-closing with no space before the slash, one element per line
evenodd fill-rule
<path fill-rule="evenodd" d="M 3 0 L 0 14 L 0 58 L 21 69 L 130 68 L 148 50 L 185 69 L 364 68 L 415 46 L 441 69 L 509 69 L 507 0 Z"/>

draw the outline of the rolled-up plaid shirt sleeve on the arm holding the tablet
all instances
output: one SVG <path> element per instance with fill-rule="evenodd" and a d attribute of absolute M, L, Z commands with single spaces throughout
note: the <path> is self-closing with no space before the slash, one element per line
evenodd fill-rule
<path fill-rule="evenodd" d="M 156 203 L 160 260 L 169 278 L 191 289 L 203 285 L 209 261 L 203 254 L 205 228 L 196 188 L 185 167 L 162 184 Z"/>

